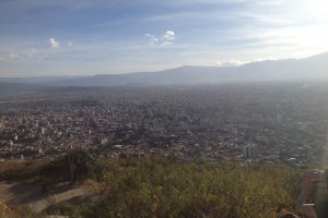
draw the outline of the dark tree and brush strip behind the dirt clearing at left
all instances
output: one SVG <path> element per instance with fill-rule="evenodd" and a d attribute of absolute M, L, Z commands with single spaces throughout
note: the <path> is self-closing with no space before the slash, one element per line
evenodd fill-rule
<path fill-rule="evenodd" d="M 71 185 L 99 179 L 103 165 L 85 150 L 71 150 L 54 161 L 0 162 L 0 181 L 61 182 Z"/>

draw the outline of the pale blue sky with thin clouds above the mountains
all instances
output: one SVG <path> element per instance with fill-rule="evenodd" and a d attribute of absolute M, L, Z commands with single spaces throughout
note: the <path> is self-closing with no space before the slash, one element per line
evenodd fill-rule
<path fill-rule="evenodd" d="M 327 0 L 1 0 L 0 77 L 238 65 L 327 38 Z"/>

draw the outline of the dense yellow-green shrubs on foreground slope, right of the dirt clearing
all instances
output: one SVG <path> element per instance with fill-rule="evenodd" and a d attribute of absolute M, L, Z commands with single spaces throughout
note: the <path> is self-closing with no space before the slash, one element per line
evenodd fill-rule
<path fill-rule="evenodd" d="M 296 172 L 286 167 L 152 158 L 121 166 L 107 172 L 106 193 L 84 216 L 269 218 L 294 204 L 286 182 Z"/>

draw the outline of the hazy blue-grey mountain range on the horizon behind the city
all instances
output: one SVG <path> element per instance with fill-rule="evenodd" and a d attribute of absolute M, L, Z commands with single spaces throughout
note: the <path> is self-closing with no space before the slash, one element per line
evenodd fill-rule
<path fill-rule="evenodd" d="M 328 80 L 328 52 L 304 59 L 268 60 L 239 66 L 181 66 L 159 72 L 80 77 L 0 78 L 0 82 L 52 86 L 141 86 L 304 80 Z"/>

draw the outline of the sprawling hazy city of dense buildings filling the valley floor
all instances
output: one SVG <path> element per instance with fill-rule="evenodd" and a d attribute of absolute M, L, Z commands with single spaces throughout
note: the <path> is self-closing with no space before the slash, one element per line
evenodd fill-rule
<path fill-rule="evenodd" d="M 3 99 L 0 109 L 1 161 L 51 160 L 86 149 L 104 159 L 297 166 L 321 160 L 328 128 L 324 83 L 63 89 Z"/>

